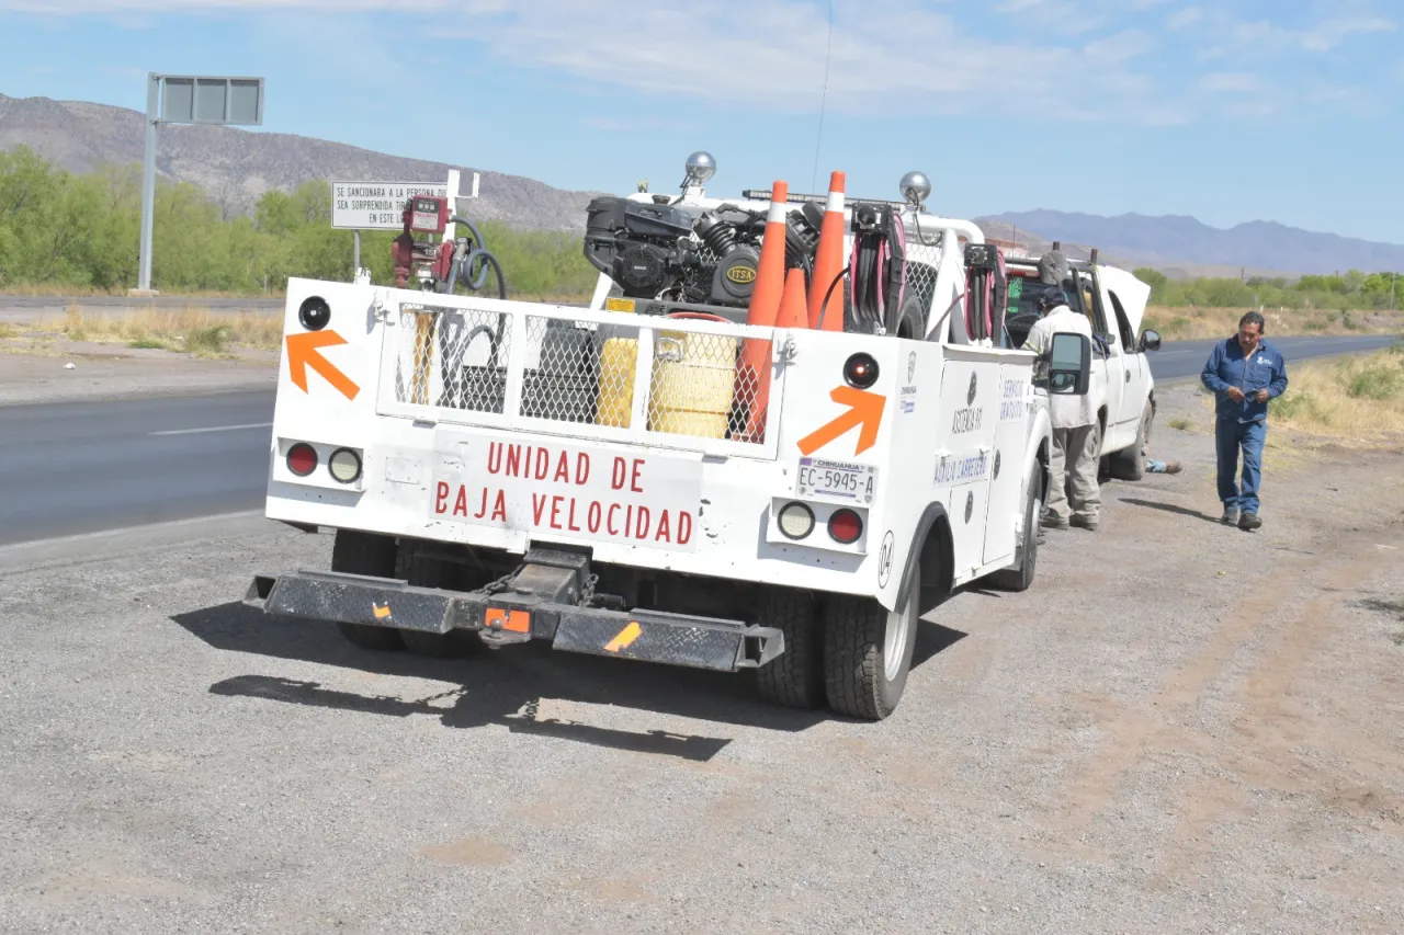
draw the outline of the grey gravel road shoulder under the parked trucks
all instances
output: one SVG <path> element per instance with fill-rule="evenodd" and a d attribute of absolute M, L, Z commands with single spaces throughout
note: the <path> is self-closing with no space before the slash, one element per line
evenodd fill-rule
<path fill-rule="evenodd" d="M 1177 414 L 880 724 L 359 651 L 237 604 L 327 566 L 271 524 L 0 574 L 0 929 L 1398 931 L 1404 456 L 1279 446 L 1244 533 Z"/>

